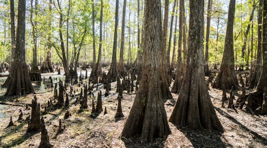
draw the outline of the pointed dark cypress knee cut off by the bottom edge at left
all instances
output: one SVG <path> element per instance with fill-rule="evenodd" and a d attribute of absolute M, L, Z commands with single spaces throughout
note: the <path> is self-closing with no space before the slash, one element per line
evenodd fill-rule
<path fill-rule="evenodd" d="M 41 117 L 41 142 L 38 148 L 52 148 L 53 145 L 49 141 L 48 132 L 46 130 L 46 125 L 44 117 Z"/>

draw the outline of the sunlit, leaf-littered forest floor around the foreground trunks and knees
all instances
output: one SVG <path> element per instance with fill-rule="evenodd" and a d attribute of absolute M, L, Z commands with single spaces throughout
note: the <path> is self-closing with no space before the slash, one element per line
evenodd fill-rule
<path fill-rule="evenodd" d="M 88 79 L 83 80 L 83 82 L 88 84 Z M 129 94 L 126 94 L 126 91 L 124 91 L 122 99 L 124 117 L 114 118 L 117 111 L 118 95 L 115 92 L 116 82 L 112 83 L 112 91 L 110 91 L 110 95 L 107 97 L 104 97 L 105 90 L 102 84 L 97 91 L 94 88 L 94 96 L 97 96 L 99 90 L 102 91 L 102 106 L 103 110 L 105 107 L 107 108 L 107 114 L 104 115 L 104 112 L 102 112 L 99 116 L 91 118 L 91 100 L 88 99 L 88 109 L 80 110 L 80 105 L 74 104 L 76 97 L 79 96 L 80 88 L 77 85 L 74 86 L 74 89 L 78 89 L 78 92 L 76 91 L 74 97 L 69 97 L 71 105 L 68 110 L 72 116 L 68 119 L 64 119 L 64 114 L 67 110 L 62 108 L 49 108 L 49 113 L 43 115 L 44 105 L 53 96 L 52 88 L 47 88 L 36 94 L 38 102 L 41 104 L 41 116 L 45 118 L 50 142 L 54 147 L 267 147 L 267 116 L 255 116 L 247 110 L 221 108 L 221 90 L 211 88 L 209 93 L 225 132 L 210 130 L 192 131 L 188 128 L 180 128 L 169 123 L 172 134 L 163 139 L 157 139 L 152 143 L 140 143 L 139 136 L 128 139 L 120 137 L 134 102 L 135 91 Z M 237 98 L 238 94 L 241 94 L 241 91 L 234 93 L 235 98 Z M 173 93 L 172 95 L 173 100 L 164 100 L 168 118 L 172 113 L 173 104 L 178 97 L 177 94 Z M 229 91 L 227 91 L 227 95 L 229 96 Z M 2 111 L 5 117 L 1 118 L 0 116 L 0 147 L 27 148 L 39 146 L 41 133 L 26 133 L 27 121 L 16 121 L 19 116 L 19 109 L 24 113 L 23 119 L 30 115 L 31 110 L 25 110 L 25 103 L 31 104 L 33 98 L 33 94 L 19 98 L 0 98 L 0 104 L 1 102 L 2 104 L 7 103 L 7 101 L 13 104 L 8 105 Z M 19 102 L 15 102 L 16 99 Z M 13 116 L 13 121 L 16 122 L 14 122 L 14 126 L 6 128 L 10 116 Z M 66 126 L 66 129 L 62 133 L 57 134 L 59 119 L 62 120 L 62 124 Z"/>

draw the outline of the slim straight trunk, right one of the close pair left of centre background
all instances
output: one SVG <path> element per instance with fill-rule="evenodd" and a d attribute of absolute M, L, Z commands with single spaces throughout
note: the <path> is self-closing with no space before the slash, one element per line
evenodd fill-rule
<path fill-rule="evenodd" d="M 96 75 L 102 76 L 102 63 L 101 63 L 101 50 L 102 50 L 102 24 L 103 24 L 103 0 L 101 0 L 101 8 L 100 8 L 100 31 L 99 31 L 99 50 L 98 50 L 98 58 L 96 63 Z"/>

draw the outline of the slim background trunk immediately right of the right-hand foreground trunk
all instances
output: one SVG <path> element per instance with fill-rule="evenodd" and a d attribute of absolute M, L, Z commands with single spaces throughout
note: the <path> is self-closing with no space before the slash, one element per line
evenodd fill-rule
<path fill-rule="evenodd" d="M 204 59 L 205 60 L 205 63 L 204 63 L 205 76 L 209 76 L 210 75 L 210 69 L 209 69 L 209 39 L 210 39 L 211 8 L 212 8 L 212 0 L 209 0 L 208 1 L 208 14 L 207 14 L 205 59 Z"/>

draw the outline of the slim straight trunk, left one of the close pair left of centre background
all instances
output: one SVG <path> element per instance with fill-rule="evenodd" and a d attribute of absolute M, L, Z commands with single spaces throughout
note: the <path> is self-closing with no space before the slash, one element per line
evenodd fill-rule
<path fill-rule="evenodd" d="M 94 0 L 92 0 L 92 30 L 93 30 L 93 67 L 90 73 L 90 77 L 96 74 L 96 53 L 95 53 L 95 10 L 94 10 Z"/>

